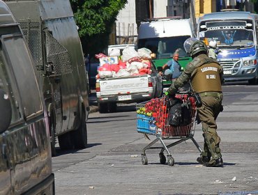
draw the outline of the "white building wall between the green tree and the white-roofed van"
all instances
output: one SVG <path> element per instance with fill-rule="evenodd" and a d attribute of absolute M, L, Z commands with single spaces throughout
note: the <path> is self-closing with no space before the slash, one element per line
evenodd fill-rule
<path fill-rule="evenodd" d="M 128 0 L 126 7 L 116 17 L 116 36 L 135 36 L 135 38 L 129 38 L 128 43 L 137 41 L 135 0 Z M 121 41 L 123 41 L 123 38 L 121 38 Z M 124 42 L 118 42 L 118 44 L 120 43 Z"/>

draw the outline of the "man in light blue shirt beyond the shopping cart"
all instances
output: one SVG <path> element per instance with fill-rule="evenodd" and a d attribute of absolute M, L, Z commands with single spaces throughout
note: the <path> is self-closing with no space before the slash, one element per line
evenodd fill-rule
<path fill-rule="evenodd" d="M 167 80 L 174 80 L 181 75 L 181 65 L 179 64 L 179 53 L 174 52 L 173 59 L 162 66 Z"/>

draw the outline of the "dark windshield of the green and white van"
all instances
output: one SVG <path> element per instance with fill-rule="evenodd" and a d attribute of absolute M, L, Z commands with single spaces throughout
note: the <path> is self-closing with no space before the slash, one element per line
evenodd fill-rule
<path fill-rule="evenodd" d="M 146 47 L 156 54 L 156 59 L 172 58 L 174 52 L 179 52 L 179 57 L 188 56 L 183 49 L 183 42 L 190 36 L 175 36 L 166 38 L 145 38 L 138 40 L 138 48 Z"/>

